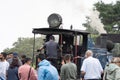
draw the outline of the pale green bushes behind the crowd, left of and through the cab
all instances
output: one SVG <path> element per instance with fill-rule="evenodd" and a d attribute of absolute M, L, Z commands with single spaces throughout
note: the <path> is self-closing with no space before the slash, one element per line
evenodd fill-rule
<path fill-rule="evenodd" d="M 6 48 L 5 52 L 17 52 L 19 54 L 25 54 L 27 56 L 32 56 L 33 53 L 33 43 L 34 38 L 18 38 L 16 42 L 13 43 L 12 48 Z M 43 43 L 43 39 L 35 39 L 35 50 L 39 49 Z"/>

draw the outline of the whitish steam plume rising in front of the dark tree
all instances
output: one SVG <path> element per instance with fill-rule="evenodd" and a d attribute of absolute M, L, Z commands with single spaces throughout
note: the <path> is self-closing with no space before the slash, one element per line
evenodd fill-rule
<path fill-rule="evenodd" d="M 98 11 L 91 11 L 90 14 L 90 20 L 91 20 L 91 27 L 95 28 L 100 34 L 101 33 L 106 33 L 106 31 L 104 30 L 104 25 L 101 23 L 101 20 L 99 19 L 99 12 Z"/>

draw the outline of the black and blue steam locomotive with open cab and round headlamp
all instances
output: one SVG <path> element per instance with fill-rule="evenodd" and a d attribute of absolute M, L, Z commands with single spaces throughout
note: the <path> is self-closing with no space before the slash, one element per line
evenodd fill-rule
<path fill-rule="evenodd" d="M 35 35 L 36 34 L 45 35 L 46 41 L 49 40 L 50 35 L 57 35 L 58 36 L 57 42 L 62 49 L 60 55 L 58 55 L 57 59 L 58 62 L 61 61 L 62 56 L 64 56 L 66 53 L 71 54 L 73 56 L 73 62 L 77 65 L 78 75 L 80 75 L 80 68 L 82 65 L 82 60 L 85 55 L 85 51 L 87 49 L 91 49 L 94 53 L 100 53 L 95 54 L 94 56 L 99 58 L 103 67 L 105 67 L 105 64 L 108 60 L 106 56 L 108 50 L 106 48 L 103 49 L 95 48 L 94 45 L 91 44 L 91 41 L 88 37 L 90 33 L 83 30 L 72 30 L 72 26 L 71 29 L 61 29 L 60 25 L 62 24 L 62 17 L 56 13 L 53 13 L 48 17 L 48 23 L 49 28 L 34 28 L 32 31 L 32 33 L 34 34 L 33 60 L 35 55 Z M 108 47 L 108 49 L 112 48 L 113 47 Z M 60 66 L 60 64 L 56 65 Z M 58 70 L 60 69 L 60 67 L 57 68 Z"/>

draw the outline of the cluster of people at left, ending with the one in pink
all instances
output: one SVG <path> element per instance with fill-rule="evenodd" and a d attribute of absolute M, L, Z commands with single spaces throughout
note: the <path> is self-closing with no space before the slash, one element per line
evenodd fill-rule
<path fill-rule="evenodd" d="M 25 55 L 22 55 L 25 57 Z M 0 80 L 37 80 L 31 58 L 20 59 L 17 53 L 0 53 Z"/>

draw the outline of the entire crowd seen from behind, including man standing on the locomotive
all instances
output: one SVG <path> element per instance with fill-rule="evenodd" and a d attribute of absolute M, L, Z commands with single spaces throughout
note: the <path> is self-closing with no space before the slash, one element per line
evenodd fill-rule
<path fill-rule="evenodd" d="M 43 48 L 47 48 L 47 57 L 55 59 L 59 47 L 53 40 L 54 38 L 50 37 L 50 41 Z M 113 57 L 103 70 L 100 61 L 94 58 L 93 54 L 91 50 L 86 51 L 80 69 L 73 63 L 71 54 L 65 54 L 58 72 L 45 54 L 37 56 L 38 68 L 34 69 L 31 66 L 32 59 L 26 55 L 19 58 L 17 53 L 1 52 L 0 80 L 120 80 L 120 57 Z M 81 71 L 79 79 L 77 70 Z"/>

